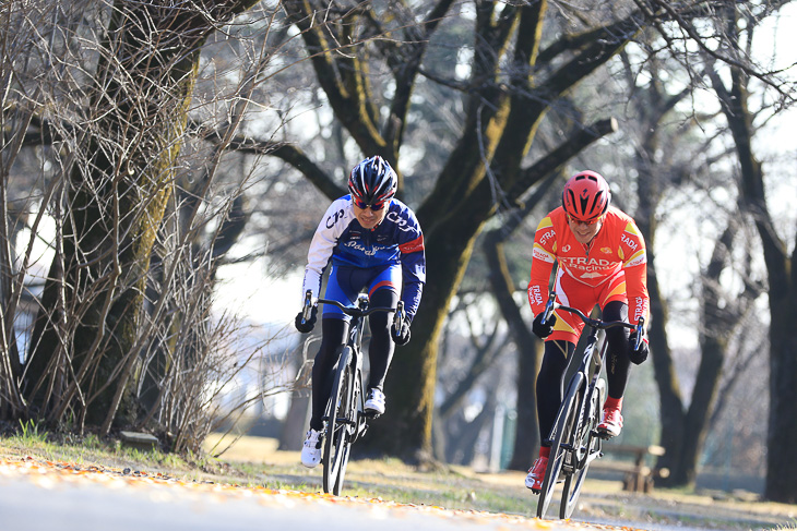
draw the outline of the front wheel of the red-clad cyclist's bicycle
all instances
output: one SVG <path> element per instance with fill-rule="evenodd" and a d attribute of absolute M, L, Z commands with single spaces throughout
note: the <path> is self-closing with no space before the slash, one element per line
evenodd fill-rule
<path fill-rule="evenodd" d="M 543 480 L 543 487 L 539 491 L 539 499 L 537 500 L 538 518 L 545 518 L 554 497 L 554 488 L 568 457 L 569 450 L 563 445 L 571 439 L 573 424 L 578 421 L 579 394 L 583 393 L 583 387 L 584 375 L 582 373 L 573 374 L 568 384 L 568 391 L 559 407 L 559 413 L 554 426 L 555 435 L 550 446 L 550 455 L 548 456 L 548 468 L 545 470 L 545 480 Z"/>

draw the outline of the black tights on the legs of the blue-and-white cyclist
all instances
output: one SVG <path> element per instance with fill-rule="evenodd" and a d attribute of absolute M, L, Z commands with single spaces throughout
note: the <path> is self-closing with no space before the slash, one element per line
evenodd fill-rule
<path fill-rule="evenodd" d="M 371 307 L 395 307 L 397 303 L 398 294 L 390 289 L 380 289 L 371 295 L 369 305 Z M 395 348 L 390 338 L 392 315 L 385 312 L 374 312 L 368 317 L 368 325 L 371 329 L 371 341 L 368 346 L 370 363 L 368 389 L 376 387 L 382 390 L 384 385 L 384 377 Z M 319 431 L 323 427 L 324 408 L 332 393 L 332 373 L 337 363 L 335 354 L 346 342 L 348 323 L 338 318 L 322 318 L 321 333 L 321 347 L 312 365 L 312 414 L 310 415 L 310 427 Z"/>

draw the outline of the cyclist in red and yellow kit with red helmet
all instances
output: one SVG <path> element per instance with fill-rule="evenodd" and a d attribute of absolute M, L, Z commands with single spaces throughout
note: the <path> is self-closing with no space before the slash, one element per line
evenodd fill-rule
<path fill-rule="evenodd" d="M 526 486 L 539 491 L 548 466 L 550 442 L 546 441 L 562 401 L 564 370 L 575 350 L 584 323 L 569 312 L 554 312 L 545 324 L 543 310 L 548 285 L 558 263 L 557 301 L 590 314 L 597 304 L 604 321 L 637 323 L 647 319 L 647 256 L 645 241 L 633 219 L 610 206 L 606 180 L 594 171 L 576 173 L 564 184 L 562 206 L 548 213 L 534 236 L 528 303 L 534 312 L 532 329 L 545 339 L 543 364 L 537 375 L 537 417 L 543 444 L 539 457 L 526 476 Z M 622 429 L 622 396 L 630 363 L 647 358 L 647 339 L 634 351 L 637 333 L 626 328 L 606 330 L 608 396 L 598 431 L 611 437 Z"/>

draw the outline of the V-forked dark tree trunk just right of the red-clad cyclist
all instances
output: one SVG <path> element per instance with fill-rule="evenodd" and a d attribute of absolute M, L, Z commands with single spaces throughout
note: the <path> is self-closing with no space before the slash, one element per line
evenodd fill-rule
<path fill-rule="evenodd" d="M 663 97 L 658 88 L 661 81 L 656 77 L 658 71 L 655 63 L 651 67 L 651 75 L 654 76 L 651 88 L 639 88 L 640 94 L 634 99 L 639 109 L 640 122 L 643 124 L 640 128 L 643 133 L 635 157 L 635 166 L 639 172 L 639 208 L 635 218 L 647 242 L 649 252 L 647 288 L 651 295 L 652 314 L 649 335 L 651 358 L 659 391 L 662 415 L 659 444 L 665 448 L 665 455 L 658 459 L 657 466 L 667 468 L 670 471 L 668 478 L 659 479 L 657 483 L 669 486 L 689 486 L 694 484 L 699 458 L 709 430 L 709 419 L 715 408 L 716 393 L 727 347 L 723 338 L 727 338 L 735 326 L 735 323 L 721 319 L 717 302 L 718 293 L 714 289 L 719 275 L 727 266 L 727 246 L 729 240 L 733 239 L 733 231 L 726 231 L 726 234 L 717 241 L 712 263 L 703 277 L 701 363 L 692 399 L 687 411 L 685 410 L 680 385 L 677 381 L 667 339 L 667 306 L 658 286 L 656 255 L 653 249 L 657 228 L 656 208 L 668 185 L 667 182 L 662 180 L 662 165 L 657 156 L 662 152 L 658 134 L 659 124 L 688 92 L 682 90 L 680 94 Z M 633 83 L 633 80 L 629 79 L 629 82 Z"/>

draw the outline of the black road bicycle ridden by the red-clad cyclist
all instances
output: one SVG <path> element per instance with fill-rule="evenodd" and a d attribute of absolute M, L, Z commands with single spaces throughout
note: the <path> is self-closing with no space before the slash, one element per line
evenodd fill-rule
<path fill-rule="evenodd" d="M 548 437 L 551 441 L 548 468 L 539 491 L 537 517 L 545 518 L 551 503 L 554 488 L 563 481 L 559 518 L 570 518 L 581 493 L 590 463 L 603 456 L 602 443 L 608 438 L 597 431 L 600 411 L 606 396 L 606 382 L 600 378 L 600 369 L 606 361 L 607 341 L 598 339 L 599 330 L 626 327 L 637 330 L 639 349 L 642 341 L 644 317 L 633 325 L 622 321 L 605 322 L 584 315 L 574 307 L 556 302 L 551 292 L 545 306 L 543 324 L 554 310 L 562 310 L 578 315 L 588 326 L 588 335 L 581 352 L 581 363 L 568 382 L 567 393 L 559 407 L 554 427 Z M 576 355 L 576 353 L 573 353 Z M 576 358 L 578 359 L 578 358 Z"/>

